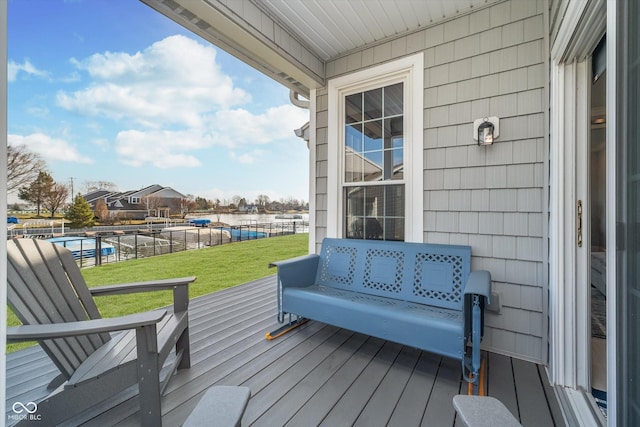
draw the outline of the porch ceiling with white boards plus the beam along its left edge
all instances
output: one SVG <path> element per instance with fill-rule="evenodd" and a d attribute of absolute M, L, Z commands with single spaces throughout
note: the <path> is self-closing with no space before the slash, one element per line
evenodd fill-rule
<path fill-rule="evenodd" d="M 141 0 L 305 96 L 325 63 L 502 0 Z"/>

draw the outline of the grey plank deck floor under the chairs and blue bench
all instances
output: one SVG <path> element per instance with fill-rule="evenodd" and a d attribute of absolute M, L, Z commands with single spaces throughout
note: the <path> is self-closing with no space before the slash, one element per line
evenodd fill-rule
<path fill-rule="evenodd" d="M 275 288 L 271 276 L 191 301 L 192 367 L 179 371 L 165 391 L 165 426 L 181 425 L 214 384 L 251 389 L 243 425 L 461 425 L 452 406 L 466 389 L 458 361 L 318 322 L 267 341 L 265 333 L 279 326 Z M 541 366 L 493 353 L 487 362 L 488 394 L 524 426 L 564 425 Z M 42 397 L 57 373 L 37 346 L 10 354 L 7 365 L 9 413 L 14 402 Z M 134 426 L 137 420 L 131 390 L 70 425 Z"/>

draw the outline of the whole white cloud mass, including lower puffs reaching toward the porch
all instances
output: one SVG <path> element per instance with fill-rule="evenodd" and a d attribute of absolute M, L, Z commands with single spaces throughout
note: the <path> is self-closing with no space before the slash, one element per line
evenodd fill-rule
<path fill-rule="evenodd" d="M 93 83 L 60 91 L 58 105 L 127 127 L 117 133 L 119 160 L 129 166 L 167 169 L 201 166 L 202 150 L 231 148 L 233 160 L 255 164 L 256 145 L 295 138 L 307 110 L 281 105 L 263 113 L 239 108 L 251 101 L 216 63 L 216 50 L 171 36 L 133 54 L 105 52 L 72 60 Z"/>

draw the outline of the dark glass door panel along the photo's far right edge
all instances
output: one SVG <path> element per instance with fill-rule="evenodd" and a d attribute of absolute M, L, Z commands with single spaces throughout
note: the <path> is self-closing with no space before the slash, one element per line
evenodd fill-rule
<path fill-rule="evenodd" d="M 616 17 L 616 418 L 640 425 L 640 2 Z"/>

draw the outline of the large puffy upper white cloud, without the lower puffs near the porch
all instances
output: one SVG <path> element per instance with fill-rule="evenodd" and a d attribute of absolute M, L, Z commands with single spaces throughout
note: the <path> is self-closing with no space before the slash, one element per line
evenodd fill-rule
<path fill-rule="evenodd" d="M 106 52 L 72 62 L 95 82 L 80 91 L 61 91 L 57 101 L 81 114 L 150 128 L 197 127 L 203 114 L 251 100 L 220 70 L 213 47 L 180 35 L 135 54 Z"/>

